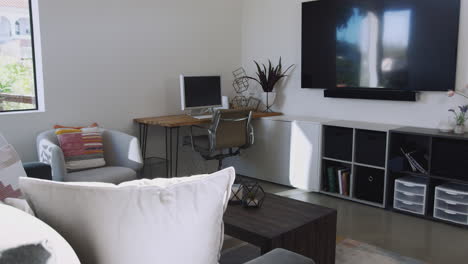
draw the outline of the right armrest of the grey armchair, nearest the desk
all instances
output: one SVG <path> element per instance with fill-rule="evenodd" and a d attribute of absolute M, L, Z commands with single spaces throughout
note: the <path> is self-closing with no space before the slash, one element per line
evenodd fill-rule
<path fill-rule="evenodd" d="M 119 131 L 105 130 L 103 140 L 107 165 L 127 167 L 135 171 L 143 168 L 143 157 L 136 137 Z"/>

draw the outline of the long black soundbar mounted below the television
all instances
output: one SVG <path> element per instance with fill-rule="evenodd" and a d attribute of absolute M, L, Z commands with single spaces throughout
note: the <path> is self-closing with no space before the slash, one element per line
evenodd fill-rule
<path fill-rule="evenodd" d="M 324 96 L 328 98 L 350 98 L 367 100 L 391 100 L 415 102 L 418 99 L 418 93 L 414 91 L 386 90 L 386 89 L 327 89 Z"/>

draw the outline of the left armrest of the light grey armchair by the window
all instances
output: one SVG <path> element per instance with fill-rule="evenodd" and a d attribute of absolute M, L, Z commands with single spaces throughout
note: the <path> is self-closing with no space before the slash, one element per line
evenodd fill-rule
<path fill-rule="evenodd" d="M 46 138 L 38 138 L 37 152 L 39 161 L 49 164 L 52 168 L 52 180 L 63 181 L 67 175 L 67 169 L 62 149 Z"/>

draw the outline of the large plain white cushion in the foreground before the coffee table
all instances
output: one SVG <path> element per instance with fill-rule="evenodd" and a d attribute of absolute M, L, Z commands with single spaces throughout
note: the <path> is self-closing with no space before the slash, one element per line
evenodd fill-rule
<path fill-rule="evenodd" d="M 36 215 L 83 263 L 213 264 L 235 172 L 107 183 L 21 178 Z"/>

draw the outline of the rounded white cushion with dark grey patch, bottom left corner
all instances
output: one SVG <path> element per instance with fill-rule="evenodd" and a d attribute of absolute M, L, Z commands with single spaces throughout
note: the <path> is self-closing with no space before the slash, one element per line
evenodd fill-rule
<path fill-rule="evenodd" d="M 80 263 L 67 241 L 39 219 L 1 203 L 0 219 L 0 263 Z"/>

